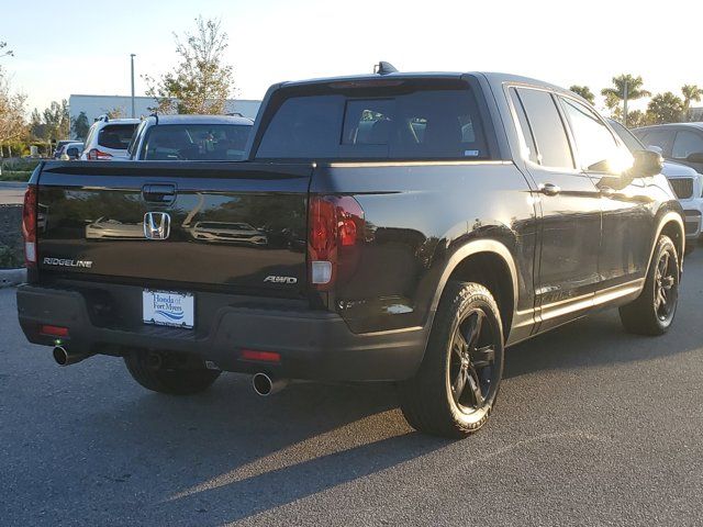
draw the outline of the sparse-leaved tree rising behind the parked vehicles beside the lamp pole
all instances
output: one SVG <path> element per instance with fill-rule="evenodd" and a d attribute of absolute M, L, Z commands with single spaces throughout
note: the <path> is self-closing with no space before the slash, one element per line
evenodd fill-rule
<path fill-rule="evenodd" d="M 196 19 L 196 32 L 176 38 L 180 57 L 171 72 L 155 80 L 144 76 L 147 96 L 157 100 L 160 113 L 224 113 L 233 90 L 232 66 L 224 63 L 227 34 L 220 20 Z"/>

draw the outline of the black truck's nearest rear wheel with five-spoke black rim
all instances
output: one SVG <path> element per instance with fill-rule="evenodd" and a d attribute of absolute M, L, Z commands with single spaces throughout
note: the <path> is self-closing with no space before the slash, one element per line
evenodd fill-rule
<path fill-rule="evenodd" d="M 490 291 L 449 282 L 420 370 L 399 386 L 408 423 L 449 438 L 478 431 L 495 404 L 503 355 L 501 315 Z"/>

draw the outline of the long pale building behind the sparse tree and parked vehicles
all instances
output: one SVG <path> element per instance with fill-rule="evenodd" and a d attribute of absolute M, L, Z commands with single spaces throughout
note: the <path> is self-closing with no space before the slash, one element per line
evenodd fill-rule
<path fill-rule="evenodd" d="M 225 113 L 241 113 L 245 117 L 255 119 L 261 101 L 246 99 L 230 99 L 225 104 Z M 134 114 L 136 117 L 152 113 L 149 108 L 156 106 L 156 100 L 150 97 L 134 98 Z M 71 94 L 68 98 L 68 113 L 72 123 L 80 112 L 85 112 L 88 123 L 111 111 L 119 111 L 121 116 L 132 116 L 132 98 L 130 96 L 80 96 Z"/>

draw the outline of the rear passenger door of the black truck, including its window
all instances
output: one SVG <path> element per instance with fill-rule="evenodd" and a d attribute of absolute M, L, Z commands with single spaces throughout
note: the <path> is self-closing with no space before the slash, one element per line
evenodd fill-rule
<path fill-rule="evenodd" d="M 540 192 L 536 302 L 540 327 L 547 329 L 592 305 L 599 280 L 600 197 L 591 179 L 576 168 L 554 96 L 525 87 L 510 92 L 527 148 L 527 170 Z"/>

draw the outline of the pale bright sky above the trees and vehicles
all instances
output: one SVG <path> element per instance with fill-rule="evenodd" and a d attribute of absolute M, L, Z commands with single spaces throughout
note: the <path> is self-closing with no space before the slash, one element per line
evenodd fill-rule
<path fill-rule="evenodd" d="M 107 3 L 0 0 L 0 41 L 14 52 L 0 65 L 29 111 L 71 93 L 129 94 L 131 53 L 143 94 L 141 76 L 174 67 L 172 34 L 192 30 L 199 14 L 221 19 L 243 99 L 261 99 L 281 80 L 369 72 L 379 60 L 403 71 L 505 71 L 595 93 L 622 72 L 640 75 L 654 93 L 703 87 L 700 0 Z"/>

